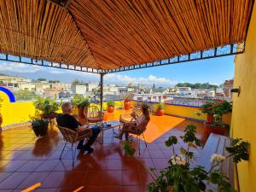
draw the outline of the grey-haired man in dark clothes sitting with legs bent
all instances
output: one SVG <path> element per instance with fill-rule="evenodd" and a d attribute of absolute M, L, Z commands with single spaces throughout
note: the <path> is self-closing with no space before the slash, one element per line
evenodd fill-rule
<path fill-rule="evenodd" d="M 73 112 L 73 106 L 71 102 L 63 102 L 61 105 L 62 114 L 57 117 L 57 124 L 59 126 L 67 127 L 73 131 L 78 131 L 79 136 L 87 134 L 88 130 L 91 129 L 92 136 L 89 138 L 88 142 L 84 144 L 84 139 L 79 141 L 78 149 L 81 151 L 87 151 L 88 153 L 93 152 L 91 145 L 95 142 L 96 137 L 101 132 L 101 129 L 96 125 L 92 128 L 88 128 L 88 125 L 81 125 L 80 122 L 71 115 Z"/>

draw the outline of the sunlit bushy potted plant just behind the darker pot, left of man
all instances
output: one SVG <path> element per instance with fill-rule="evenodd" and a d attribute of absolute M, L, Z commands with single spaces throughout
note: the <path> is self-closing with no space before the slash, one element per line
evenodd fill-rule
<path fill-rule="evenodd" d="M 40 112 L 42 119 L 54 119 L 56 111 L 60 108 L 60 103 L 49 97 L 38 97 L 33 104 Z"/>

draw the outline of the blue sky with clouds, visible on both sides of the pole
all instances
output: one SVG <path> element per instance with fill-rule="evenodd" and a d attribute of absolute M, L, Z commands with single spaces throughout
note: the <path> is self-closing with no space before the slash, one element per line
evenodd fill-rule
<path fill-rule="evenodd" d="M 84 82 L 99 81 L 99 76 L 64 69 L 37 67 L 26 64 L 0 61 L 0 73 L 17 75 L 29 79 L 57 79 L 72 82 L 74 79 Z M 149 67 L 122 73 L 108 74 L 106 84 L 156 84 L 173 86 L 179 82 L 222 84 L 225 79 L 234 77 L 234 56 L 218 57 L 201 61 L 191 61 L 162 67 Z"/>

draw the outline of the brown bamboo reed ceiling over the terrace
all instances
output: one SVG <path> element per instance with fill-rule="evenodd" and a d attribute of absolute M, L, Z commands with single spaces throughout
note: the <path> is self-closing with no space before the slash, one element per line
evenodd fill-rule
<path fill-rule="evenodd" d="M 0 0 L 4 54 L 113 69 L 245 41 L 253 0 Z"/>

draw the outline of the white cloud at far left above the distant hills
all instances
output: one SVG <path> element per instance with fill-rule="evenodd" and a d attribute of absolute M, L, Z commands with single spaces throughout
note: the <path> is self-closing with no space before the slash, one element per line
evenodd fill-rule
<path fill-rule="evenodd" d="M 37 66 L 28 67 L 28 65 L 24 63 L 8 62 L 8 63 L 0 63 L 0 70 L 17 72 L 17 73 L 35 73 L 39 71 L 39 68 Z"/>

